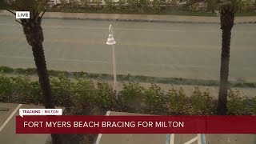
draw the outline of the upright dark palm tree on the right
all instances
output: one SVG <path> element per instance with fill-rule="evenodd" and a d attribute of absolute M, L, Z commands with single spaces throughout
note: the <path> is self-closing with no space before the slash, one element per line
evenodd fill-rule
<path fill-rule="evenodd" d="M 226 103 L 230 64 L 230 39 L 231 30 L 234 26 L 234 4 L 230 1 L 222 2 L 220 6 L 220 14 L 222 29 L 222 56 L 217 112 L 220 115 L 224 115 L 227 112 Z"/>

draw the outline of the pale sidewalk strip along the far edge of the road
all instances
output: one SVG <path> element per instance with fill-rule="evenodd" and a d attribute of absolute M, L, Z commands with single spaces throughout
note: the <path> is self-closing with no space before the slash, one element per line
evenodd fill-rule
<path fill-rule="evenodd" d="M 0 15 L 11 15 L 7 11 L 2 11 Z M 166 23 L 215 23 L 220 22 L 219 17 L 201 16 L 181 16 L 181 15 L 153 15 L 153 14 L 89 14 L 89 13 L 61 13 L 46 12 L 44 18 L 62 19 L 86 19 L 86 20 L 106 20 L 119 22 L 166 22 Z M 234 23 L 256 23 L 256 16 L 236 17 Z"/>

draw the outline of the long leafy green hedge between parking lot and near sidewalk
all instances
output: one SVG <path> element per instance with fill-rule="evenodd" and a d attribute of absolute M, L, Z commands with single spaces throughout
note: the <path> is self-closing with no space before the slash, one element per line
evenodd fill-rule
<path fill-rule="evenodd" d="M 138 82 L 124 82 L 115 100 L 114 91 L 107 82 L 98 79 L 94 84 L 88 78 L 70 80 L 63 75 L 51 77 L 50 84 L 56 106 L 64 106 L 68 114 L 104 114 L 106 110 L 126 111 L 142 114 L 216 114 L 216 100 L 208 90 L 195 87 L 189 97 L 182 87 L 170 87 L 165 92 L 152 83 L 149 88 Z M 256 114 L 256 98 L 246 98 L 238 90 L 229 90 L 228 114 Z M 42 91 L 38 81 L 27 75 L 7 77 L 0 74 L 0 102 L 42 105 Z"/>

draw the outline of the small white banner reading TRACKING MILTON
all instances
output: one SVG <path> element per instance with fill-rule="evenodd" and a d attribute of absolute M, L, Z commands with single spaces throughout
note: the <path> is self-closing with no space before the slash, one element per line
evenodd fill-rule
<path fill-rule="evenodd" d="M 62 109 L 19 109 L 19 115 L 62 115 Z"/>

